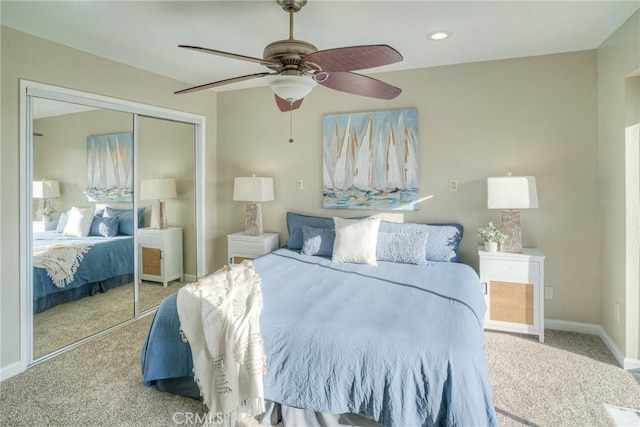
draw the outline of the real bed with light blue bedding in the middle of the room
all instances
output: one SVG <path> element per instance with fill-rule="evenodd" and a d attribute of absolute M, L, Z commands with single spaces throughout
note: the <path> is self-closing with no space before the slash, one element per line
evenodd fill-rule
<path fill-rule="evenodd" d="M 461 227 L 431 226 L 431 249 L 446 254 L 444 260 L 378 258 L 372 265 L 334 262 L 337 250 L 332 248 L 333 257 L 322 255 L 318 239 L 309 255 L 308 230 L 292 226 L 297 219 L 288 217 L 287 247 L 253 260 L 264 298 L 265 398 L 280 405 L 280 413 L 307 410 L 312 415 L 304 425 L 326 424 L 317 414 L 358 414 L 371 420 L 368 425 L 391 427 L 497 425 L 479 278 L 455 262 Z M 338 245 L 340 234 L 331 241 L 326 232 L 333 221 L 322 221 L 311 221 L 311 228 L 324 230 L 325 240 Z M 383 223 L 378 231 L 417 241 L 413 231 L 425 227 Z M 438 239 L 445 248 L 434 246 Z M 428 256 L 438 258 L 436 252 Z M 190 348 L 179 326 L 174 294 L 160 305 L 143 346 L 143 381 L 197 397 Z"/>

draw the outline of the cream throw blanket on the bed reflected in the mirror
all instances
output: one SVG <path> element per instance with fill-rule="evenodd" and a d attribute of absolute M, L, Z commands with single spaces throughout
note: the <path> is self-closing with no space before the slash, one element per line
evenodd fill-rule
<path fill-rule="evenodd" d="M 84 254 L 91 246 L 86 243 L 58 244 L 36 250 L 33 253 L 33 266 L 46 268 L 53 284 L 64 288 L 73 281 Z"/>

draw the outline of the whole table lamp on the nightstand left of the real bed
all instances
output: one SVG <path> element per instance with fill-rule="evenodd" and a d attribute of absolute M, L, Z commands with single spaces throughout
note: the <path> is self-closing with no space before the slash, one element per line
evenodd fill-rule
<path fill-rule="evenodd" d="M 233 200 L 247 203 L 244 234 L 259 236 L 262 230 L 261 202 L 273 200 L 273 178 L 239 177 L 233 181 Z"/>

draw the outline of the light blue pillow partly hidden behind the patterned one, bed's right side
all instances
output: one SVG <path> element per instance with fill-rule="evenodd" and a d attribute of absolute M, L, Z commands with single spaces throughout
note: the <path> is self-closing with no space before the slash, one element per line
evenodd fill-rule
<path fill-rule="evenodd" d="M 460 224 L 416 224 L 380 222 L 383 233 L 413 233 L 425 231 L 427 239 L 427 259 L 430 261 L 460 262 L 458 248 L 462 240 L 463 227 Z"/>

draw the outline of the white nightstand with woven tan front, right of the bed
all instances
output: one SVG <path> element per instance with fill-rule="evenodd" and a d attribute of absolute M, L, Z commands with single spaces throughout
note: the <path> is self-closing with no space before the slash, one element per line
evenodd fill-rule
<path fill-rule="evenodd" d="M 478 248 L 480 281 L 487 302 L 484 327 L 538 335 L 544 342 L 544 255 L 486 252 Z"/>

